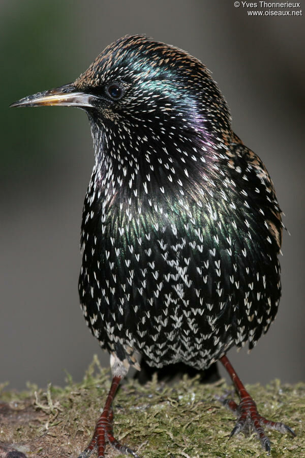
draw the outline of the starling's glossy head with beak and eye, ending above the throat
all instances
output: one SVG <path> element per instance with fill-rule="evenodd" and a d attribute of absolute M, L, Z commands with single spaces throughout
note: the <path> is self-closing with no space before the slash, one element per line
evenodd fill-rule
<path fill-rule="evenodd" d="M 64 105 L 87 111 L 92 123 L 165 133 L 230 130 L 227 105 L 200 61 L 145 36 L 106 47 L 74 82 L 25 97 L 11 106 Z"/>

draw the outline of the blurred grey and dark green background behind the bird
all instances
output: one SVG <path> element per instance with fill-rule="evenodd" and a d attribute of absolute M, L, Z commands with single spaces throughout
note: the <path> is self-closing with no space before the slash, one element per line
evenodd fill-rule
<path fill-rule="evenodd" d="M 235 132 L 266 164 L 291 233 L 281 258 L 283 297 L 251 355 L 233 349 L 229 357 L 245 382 L 304 381 L 304 16 L 249 17 L 231 0 L 0 6 L 0 382 L 63 385 L 65 371 L 81 380 L 94 353 L 109 364 L 85 326 L 77 292 L 82 203 L 94 158 L 86 115 L 8 105 L 74 80 L 127 33 L 197 56 L 219 83 Z"/>

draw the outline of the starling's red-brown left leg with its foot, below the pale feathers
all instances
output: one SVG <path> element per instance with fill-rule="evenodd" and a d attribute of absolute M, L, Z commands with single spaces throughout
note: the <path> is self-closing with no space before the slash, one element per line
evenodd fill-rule
<path fill-rule="evenodd" d="M 120 444 L 114 437 L 112 431 L 112 420 L 113 420 L 113 411 L 112 411 L 112 401 L 117 391 L 121 377 L 114 376 L 112 379 L 111 387 L 108 392 L 106 403 L 103 409 L 103 412 L 96 424 L 96 428 L 93 434 L 93 437 L 89 445 L 85 450 L 78 456 L 78 458 L 88 458 L 90 454 L 97 449 L 98 458 L 104 458 L 105 456 L 105 447 L 106 443 L 109 442 L 113 448 L 115 448 L 120 453 L 131 454 L 135 458 L 139 456 L 131 450 L 126 445 Z"/>

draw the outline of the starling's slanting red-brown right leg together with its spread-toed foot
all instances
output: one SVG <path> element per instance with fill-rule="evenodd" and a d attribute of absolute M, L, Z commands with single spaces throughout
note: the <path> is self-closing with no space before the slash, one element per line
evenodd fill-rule
<path fill-rule="evenodd" d="M 266 420 L 266 418 L 259 415 L 254 400 L 243 386 L 228 358 L 223 356 L 220 358 L 220 361 L 227 369 L 240 397 L 240 403 L 238 406 L 232 399 L 225 399 L 222 401 L 225 406 L 237 415 L 237 422 L 230 434 L 230 437 L 238 434 L 242 430 L 247 430 L 247 428 L 249 428 L 249 430 L 253 429 L 258 435 L 262 447 L 268 452 L 268 454 L 270 452 L 270 441 L 265 435 L 264 427 L 270 430 L 277 430 L 280 433 L 290 433 L 293 437 L 295 437 L 296 434 L 294 431 L 286 424 Z"/>

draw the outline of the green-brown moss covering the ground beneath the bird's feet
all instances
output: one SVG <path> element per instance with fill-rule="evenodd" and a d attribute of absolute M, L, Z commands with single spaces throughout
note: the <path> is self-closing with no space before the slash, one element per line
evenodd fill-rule
<path fill-rule="evenodd" d="M 95 356 L 82 383 L 68 376 L 65 388 L 49 385 L 42 390 L 32 385 L 26 393 L 2 391 L 10 411 L 3 415 L 0 440 L 15 444 L 28 457 L 76 457 L 92 436 L 109 387 L 110 373 Z M 234 415 L 216 396 L 231 389 L 223 380 L 202 385 L 198 378 L 185 377 L 173 386 L 156 378 L 145 386 L 127 380 L 114 400 L 115 437 L 142 458 L 266 456 L 254 434 L 229 440 Z M 247 389 L 261 414 L 288 423 L 297 433 L 292 439 L 268 431 L 271 456 L 305 456 L 305 384 L 281 385 L 275 380 L 266 387 Z M 107 457 L 112 456 L 126 455 L 109 446 Z"/>

